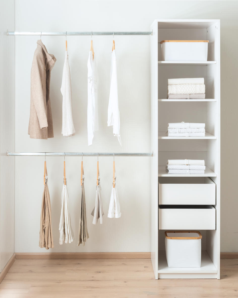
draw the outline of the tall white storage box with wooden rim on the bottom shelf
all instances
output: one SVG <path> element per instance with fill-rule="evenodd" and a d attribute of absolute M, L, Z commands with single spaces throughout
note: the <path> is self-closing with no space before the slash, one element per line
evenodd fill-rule
<path fill-rule="evenodd" d="M 201 267 L 201 239 L 198 231 L 166 231 L 168 267 Z"/>

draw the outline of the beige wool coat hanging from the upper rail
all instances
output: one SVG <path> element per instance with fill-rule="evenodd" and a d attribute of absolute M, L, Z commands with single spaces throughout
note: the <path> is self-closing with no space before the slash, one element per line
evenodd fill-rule
<path fill-rule="evenodd" d="M 28 134 L 32 139 L 53 138 L 49 87 L 55 56 L 49 54 L 41 40 L 37 41 L 31 68 L 31 100 Z"/>

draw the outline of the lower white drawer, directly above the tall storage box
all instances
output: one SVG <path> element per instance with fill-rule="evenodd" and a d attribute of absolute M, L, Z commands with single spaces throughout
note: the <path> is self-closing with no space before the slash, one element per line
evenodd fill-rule
<path fill-rule="evenodd" d="M 205 205 L 159 206 L 159 230 L 215 230 L 216 209 Z"/>

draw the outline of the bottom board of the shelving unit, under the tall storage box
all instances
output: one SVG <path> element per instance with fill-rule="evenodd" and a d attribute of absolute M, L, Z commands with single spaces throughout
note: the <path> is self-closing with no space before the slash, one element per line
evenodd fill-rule
<path fill-rule="evenodd" d="M 212 263 L 208 253 L 201 253 L 201 267 L 176 268 L 168 267 L 165 251 L 158 252 L 158 273 L 217 273 L 217 268 Z"/>

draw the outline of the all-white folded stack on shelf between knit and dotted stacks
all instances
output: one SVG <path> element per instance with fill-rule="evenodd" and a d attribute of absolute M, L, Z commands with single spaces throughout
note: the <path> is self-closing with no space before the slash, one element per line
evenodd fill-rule
<path fill-rule="evenodd" d="M 169 123 L 167 136 L 205 136 L 205 123 Z"/>

